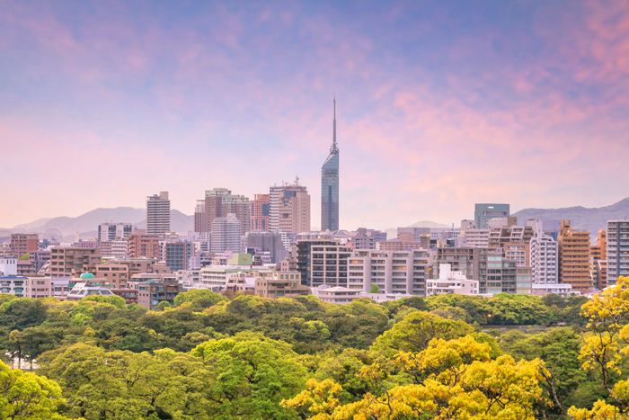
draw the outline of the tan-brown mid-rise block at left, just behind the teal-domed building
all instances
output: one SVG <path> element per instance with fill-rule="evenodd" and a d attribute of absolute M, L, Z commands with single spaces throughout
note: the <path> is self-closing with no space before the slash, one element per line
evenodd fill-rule
<path fill-rule="evenodd" d="M 53 279 L 79 277 L 82 273 L 95 275 L 100 264 L 99 248 L 59 246 L 50 250 L 50 277 Z"/>

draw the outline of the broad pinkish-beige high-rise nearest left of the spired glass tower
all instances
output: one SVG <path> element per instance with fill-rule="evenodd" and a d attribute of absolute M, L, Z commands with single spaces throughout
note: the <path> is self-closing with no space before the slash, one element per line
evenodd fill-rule
<path fill-rule="evenodd" d="M 270 187 L 270 230 L 300 233 L 310 230 L 310 194 L 304 185 L 282 183 Z"/>

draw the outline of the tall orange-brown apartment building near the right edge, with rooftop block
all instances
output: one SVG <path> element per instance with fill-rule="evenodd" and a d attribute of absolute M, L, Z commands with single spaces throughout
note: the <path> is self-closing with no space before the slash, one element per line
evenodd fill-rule
<path fill-rule="evenodd" d="M 592 286 L 589 275 L 589 232 L 575 230 L 570 220 L 562 220 L 557 239 L 559 245 L 559 282 L 571 284 L 572 290 L 588 291 Z"/>

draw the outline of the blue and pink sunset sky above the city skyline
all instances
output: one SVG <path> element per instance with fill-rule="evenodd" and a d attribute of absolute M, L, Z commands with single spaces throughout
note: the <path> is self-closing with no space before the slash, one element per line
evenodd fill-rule
<path fill-rule="evenodd" d="M 0 0 L 0 227 L 296 176 L 320 226 L 629 196 L 629 1 Z"/>

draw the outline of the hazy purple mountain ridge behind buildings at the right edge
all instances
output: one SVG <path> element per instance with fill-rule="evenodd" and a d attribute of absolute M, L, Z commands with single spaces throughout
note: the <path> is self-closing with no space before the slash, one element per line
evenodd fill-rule
<path fill-rule="evenodd" d="M 596 236 L 598 230 L 607 229 L 607 220 L 629 217 L 629 198 L 607 207 L 586 209 L 585 207 L 566 207 L 563 209 L 524 209 L 513 213 L 518 217 L 518 224 L 523 225 L 528 219 L 571 220 L 571 227 L 589 230 Z"/>

